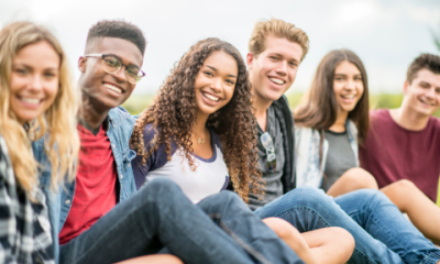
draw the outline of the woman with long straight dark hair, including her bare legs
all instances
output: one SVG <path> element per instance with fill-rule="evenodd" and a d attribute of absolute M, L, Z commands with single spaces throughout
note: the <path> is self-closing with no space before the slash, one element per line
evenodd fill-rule
<path fill-rule="evenodd" d="M 374 177 L 359 167 L 359 144 L 369 132 L 370 118 L 366 72 L 356 54 L 338 50 L 322 58 L 294 119 L 297 186 L 322 188 L 333 197 L 378 188 Z M 415 185 L 399 180 L 381 190 L 394 204 L 396 194 L 404 193 L 426 205 L 408 210 L 408 216 L 427 238 L 440 241 L 440 227 L 431 224 L 440 223 L 440 209 Z"/>

